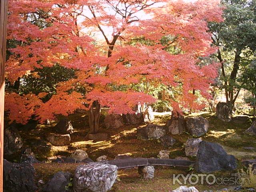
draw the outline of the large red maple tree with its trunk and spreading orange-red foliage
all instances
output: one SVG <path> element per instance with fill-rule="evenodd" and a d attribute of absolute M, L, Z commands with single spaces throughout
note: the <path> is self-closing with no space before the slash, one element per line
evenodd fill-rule
<path fill-rule="evenodd" d="M 58 84 L 57 94 L 45 103 L 44 93 L 6 94 L 10 120 L 26 123 L 36 114 L 44 121 L 84 108 L 89 110 L 90 132 L 95 133 L 101 106 L 126 114 L 138 102 L 155 101 L 130 86 L 142 79 L 180 87 L 180 96 L 168 98 L 174 108 L 199 108 L 193 93 L 209 97 L 218 67 L 198 65 L 199 57 L 216 51 L 207 23 L 221 21 L 221 13 L 218 0 L 10 1 L 8 39 L 18 45 L 9 49 L 6 78 L 14 82 L 34 68 L 54 64 L 78 69 L 77 78 Z M 131 39 L 149 43 L 130 44 Z M 162 43 L 163 39 L 167 41 Z M 88 93 L 76 92 L 77 84 L 86 85 Z M 113 88 L 124 85 L 125 90 Z"/>

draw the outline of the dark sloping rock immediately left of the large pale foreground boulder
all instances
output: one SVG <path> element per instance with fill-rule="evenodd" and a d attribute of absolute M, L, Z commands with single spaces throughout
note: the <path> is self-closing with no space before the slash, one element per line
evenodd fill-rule
<path fill-rule="evenodd" d="M 70 178 L 71 178 L 70 172 L 60 171 L 54 174 L 53 178 L 44 185 L 42 192 L 66 191 L 65 187 L 70 182 Z"/>

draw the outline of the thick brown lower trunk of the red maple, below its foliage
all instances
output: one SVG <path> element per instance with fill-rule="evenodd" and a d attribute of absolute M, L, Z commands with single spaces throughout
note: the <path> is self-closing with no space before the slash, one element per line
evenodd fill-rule
<path fill-rule="evenodd" d="M 98 133 L 100 130 L 100 104 L 98 101 L 94 101 L 89 110 L 89 126 L 92 134 Z"/>

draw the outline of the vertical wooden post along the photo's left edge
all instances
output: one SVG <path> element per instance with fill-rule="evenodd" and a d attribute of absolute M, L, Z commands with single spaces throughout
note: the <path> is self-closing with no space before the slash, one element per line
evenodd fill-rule
<path fill-rule="evenodd" d="M 7 2 L 0 2 L 0 192 L 3 191 L 4 156 L 4 64 L 6 60 Z"/>

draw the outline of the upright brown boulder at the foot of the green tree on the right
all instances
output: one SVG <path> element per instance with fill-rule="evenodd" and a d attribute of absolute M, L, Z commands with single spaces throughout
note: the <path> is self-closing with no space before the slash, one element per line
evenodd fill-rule
<path fill-rule="evenodd" d="M 231 121 L 232 111 L 233 105 L 230 103 L 219 102 L 216 106 L 217 118 L 224 122 Z"/>

